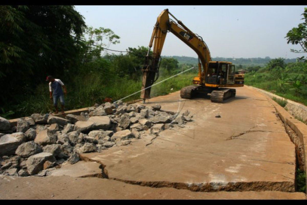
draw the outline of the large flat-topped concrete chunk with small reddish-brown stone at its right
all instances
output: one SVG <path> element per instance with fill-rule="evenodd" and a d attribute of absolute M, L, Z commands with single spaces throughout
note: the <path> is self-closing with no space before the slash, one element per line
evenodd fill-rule
<path fill-rule="evenodd" d="M 49 152 L 41 152 L 30 156 L 27 160 L 28 173 L 33 175 L 43 170 L 45 161 L 55 162 L 56 159 Z"/>

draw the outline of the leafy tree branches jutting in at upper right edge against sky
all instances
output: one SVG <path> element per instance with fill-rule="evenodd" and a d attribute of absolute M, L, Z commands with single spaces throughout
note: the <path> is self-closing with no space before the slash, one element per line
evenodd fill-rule
<path fill-rule="evenodd" d="M 285 37 L 288 40 L 287 44 L 299 44 L 301 46 L 302 50 L 291 49 L 291 52 L 294 53 L 307 53 L 307 8 L 305 8 L 304 13 L 301 15 L 304 16 L 302 20 L 305 22 L 300 23 L 297 27 L 291 29 Z M 298 59 L 307 62 L 307 58 L 305 56 L 302 56 Z"/>

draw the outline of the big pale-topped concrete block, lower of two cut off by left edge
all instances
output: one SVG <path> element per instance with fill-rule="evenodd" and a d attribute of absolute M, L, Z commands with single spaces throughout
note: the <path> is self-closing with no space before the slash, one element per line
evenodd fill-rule
<path fill-rule="evenodd" d="M 25 134 L 22 132 L 2 136 L 0 138 L 0 156 L 14 155 L 18 146 L 25 142 L 25 139 Z"/>

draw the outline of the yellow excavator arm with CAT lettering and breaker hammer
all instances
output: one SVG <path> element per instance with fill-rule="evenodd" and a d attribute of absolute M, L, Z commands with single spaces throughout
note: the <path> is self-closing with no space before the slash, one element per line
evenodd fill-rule
<path fill-rule="evenodd" d="M 171 15 L 176 21 L 174 22 L 169 18 Z M 208 63 L 211 61 L 211 55 L 209 49 L 203 39 L 189 30 L 181 21 L 177 20 L 168 9 L 165 9 L 157 18 L 157 22 L 153 28 L 153 33 L 150 38 L 149 50 L 145 58 L 145 65 L 142 69 L 142 91 L 141 98 L 145 102 L 145 99 L 150 98 L 151 85 L 159 77 L 159 64 L 161 62 L 161 52 L 164 45 L 167 32 L 173 33 L 186 45 L 192 48 L 198 55 L 198 80 L 203 82 L 204 74 L 207 73 Z M 150 55 L 150 49 L 153 46 L 153 53 Z M 203 73 L 201 70 L 203 67 Z"/>

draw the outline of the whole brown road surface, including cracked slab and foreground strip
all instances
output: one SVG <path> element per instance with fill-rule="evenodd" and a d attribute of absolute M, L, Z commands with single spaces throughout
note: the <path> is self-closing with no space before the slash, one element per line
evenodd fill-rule
<path fill-rule="evenodd" d="M 82 154 L 101 164 L 93 170 L 78 162 L 57 176 L 0 177 L 0 199 L 306 199 L 293 193 L 295 147 L 274 106 L 255 89 L 236 90 L 224 104 L 179 92 L 154 97 L 146 106 L 188 109 L 193 121 Z"/>

